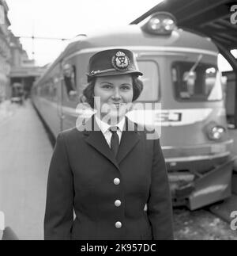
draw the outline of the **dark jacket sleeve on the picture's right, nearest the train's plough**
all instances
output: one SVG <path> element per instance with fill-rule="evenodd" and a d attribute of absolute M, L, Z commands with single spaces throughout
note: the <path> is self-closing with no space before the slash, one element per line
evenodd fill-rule
<path fill-rule="evenodd" d="M 155 139 L 153 144 L 152 181 L 147 213 L 152 224 L 153 239 L 174 239 L 171 194 L 160 139 Z"/>

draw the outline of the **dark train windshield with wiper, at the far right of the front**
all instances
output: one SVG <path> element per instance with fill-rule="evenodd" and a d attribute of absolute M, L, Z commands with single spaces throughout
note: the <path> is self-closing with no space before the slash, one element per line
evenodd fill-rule
<path fill-rule="evenodd" d="M 175 97 L 180 101 L 220 101 L 220 72 L 213 64 L 175 62 L 171 68 Z"/>

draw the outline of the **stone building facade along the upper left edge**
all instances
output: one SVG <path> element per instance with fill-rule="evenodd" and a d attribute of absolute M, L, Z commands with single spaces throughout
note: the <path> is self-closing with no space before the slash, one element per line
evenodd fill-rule
<path fill-rule="evenodd" d="M 36 67 L 29 59 L 17 37 L 9 30 L 9 7 L 0 0 L 0 102 L 12 96 L 12 86 L 20 82 L 26 96 L 30 94 L 33 82 L 45 71 L 45 67 Z"/>

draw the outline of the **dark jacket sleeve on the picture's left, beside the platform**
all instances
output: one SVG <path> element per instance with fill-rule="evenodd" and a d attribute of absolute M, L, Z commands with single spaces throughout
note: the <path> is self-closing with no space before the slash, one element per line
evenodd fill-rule
<path fill-rule="evenodd" d="M 44 216 L 44 239 L 70 239 L 73 225 L 73 173 L 62 133 L 52 155 Z"/>

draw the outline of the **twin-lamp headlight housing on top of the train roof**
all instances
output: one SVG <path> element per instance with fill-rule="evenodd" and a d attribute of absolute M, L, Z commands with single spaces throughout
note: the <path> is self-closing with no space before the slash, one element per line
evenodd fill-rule
<path fill-rule="evenodd" d="M 175 17 L 171 13 L 154 13 L 145 19 L 141 26 L 145 32 L 158 35 L 169 35 L 176 28 Z"/>

